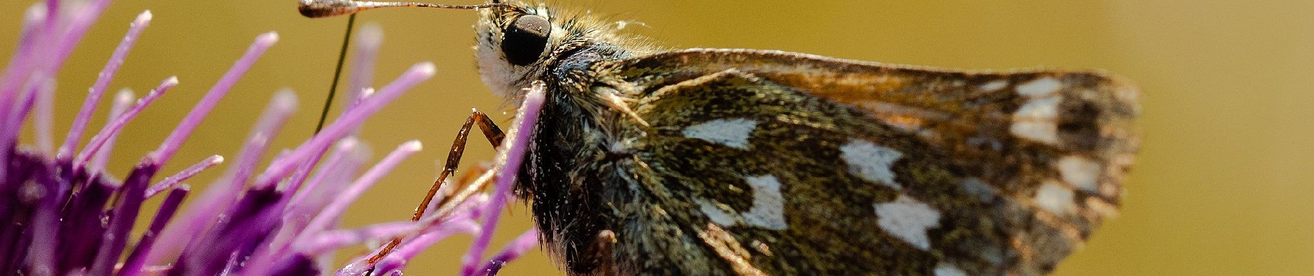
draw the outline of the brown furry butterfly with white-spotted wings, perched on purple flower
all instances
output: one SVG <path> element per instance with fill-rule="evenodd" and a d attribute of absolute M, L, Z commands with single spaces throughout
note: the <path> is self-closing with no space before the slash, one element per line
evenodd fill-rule
<path fill-rule="evenodd" d="M 364 9 L 332 8 L 311 13 Z M 1117 213 L 1139 144 L 1139 90 L 1102 72 L 670 50 L 466 8 L 482 81 L 545 89 L 516 192 L 570 275 L 1043 275 Z"/>

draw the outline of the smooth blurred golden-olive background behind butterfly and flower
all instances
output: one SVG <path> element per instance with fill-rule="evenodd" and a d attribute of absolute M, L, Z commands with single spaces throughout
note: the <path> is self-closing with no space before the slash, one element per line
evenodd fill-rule
<path fill-rule="evenodd" d="M 0 3 L 0 52 L 13 52 L 30 0 Z M 476 1 L 448 1 L 474 4 Z M 742 47 L 957 68 L 1104 68 L 1143 90 L 1144 148 L 1122 216 L 1105 224 L 1058 275 L 1303 275 L 1314 271 L 1314 1 L 561 1 L 635 20 L 669 47 Z M 233 156 L 280 88 L 301 111 L 276 148 L 306 139 L 325 101 L 346 17 L 304 18 L 296 0 L 116 0 L 59 73 L 55 129 L 67 129 L 85 89 L 133 17 L 155 21 L 112 84 L 139 94 L 177 75 L 181 85 L 127 126 L 112 157 L 126 171 L 163 140 L 256 34 L 279 44 L 234 88 L 183 150 L 177 171 Z M 346 226 L 405 220 L 470 107 L 506 118 L 474 71 L 476 13 L 392 9 L 360 22 L 385 30 L 376 84 L 417 61 L 439 76 L 364 127 L 377 154 L 419 139 L 411 157 L 364 195 Z M 109 97 L 106 97 L 109 98 Z M 92 126 L 101 126 L 108 107 Z M 335 112 L 340 105 L 335 106 Z M 29 139 L 30 135 L 24 136 Z M 62 135 L 57 133 L 62 139 Z M 472 139 L 480 141 L 481 139 Z M 466 166 L 493 149 L 472 143 Z M 378 158 L 380 156 L 376 156 Z M 218 173 L 191 181 L 201 186 Z M 505 216 L 501 245 L 530 228 L 523 204 Z M 410 275 L 451 275 L 469 238 L 419 258 Z M 353 252 L 364 249 L 352 249 Z M 503 275 L 560 275 L 541 252 Z"/>

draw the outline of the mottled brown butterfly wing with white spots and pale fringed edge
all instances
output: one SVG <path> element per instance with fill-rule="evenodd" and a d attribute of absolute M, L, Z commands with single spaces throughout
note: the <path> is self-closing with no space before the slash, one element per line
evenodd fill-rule
<path fill-rule="evenodd" d="M 595 71 L 652 126 L 614 254 L 678 254 L 644 271 L 1046 273 L 1116 213 L 1138 144 L 1138 90 L 1093 72 L 752 50 Z"/>

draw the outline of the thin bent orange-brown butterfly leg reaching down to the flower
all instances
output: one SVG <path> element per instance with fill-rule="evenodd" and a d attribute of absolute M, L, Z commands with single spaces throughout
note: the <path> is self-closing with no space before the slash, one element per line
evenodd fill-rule
<path fill-rule="evenodd" d="M 493 119 L 489 119 L 487 114 L 473 110 L 470 116 L 465 118 L 465 124 L 461 124 L 461 129 L 456 132 L 456 139 L 452 141 L 452 149 L 447 153 L 447 162 L 443 164 L 443 171 L 438 174 L 438 179 L 435 179 L 434 186 L 428 188 L 428 194 L 426 194 L 424 199 L 415 207 L 415 215 L 411 216 L 411 221 L 419 221 L 419 218 L 424 216 L 430 203 L 434 201 L 434 196 L 436 196 L 439 188 L 443 187 L 443 182 L 447 181 L 447 177 L 451 177 L 452 173 L 456 173 L 456 167 L 461 164 L 461 154 L 465 153 L 465 140 L 470 136 L 470 129 L 474 128 L 474 126 L 478 126 L 480 131 L 484 132 L 484 137 L 489 140 L 489 144 L 493 144 L 493 148 L 502 145 L 502 140 L 506 137 L 502 128 L 498 128 L 497 123 L 493 123 Z M 388 245 L 384 246 L 378 254 L 369 258 L 369 263 L 377 263 L 380 259 L 386 256 L 388 252 L 393 251 L 397 245 L 401 245 L 401 237 L 393 238 L 393 241 L 388 242 Z"/>

